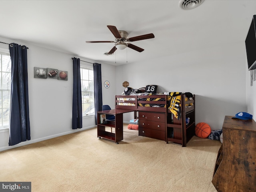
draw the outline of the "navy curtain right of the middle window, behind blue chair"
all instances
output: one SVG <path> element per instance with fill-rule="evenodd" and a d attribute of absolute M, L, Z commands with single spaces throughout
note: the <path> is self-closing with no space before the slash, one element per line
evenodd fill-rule
<path fill-rule="evenodd" d="M 102 84 L 101 64 L 93 64 L 94 74 L 94 100 L 95 100 L 95 124 L 97 124 L 97 112 L 102 110 Z"/>

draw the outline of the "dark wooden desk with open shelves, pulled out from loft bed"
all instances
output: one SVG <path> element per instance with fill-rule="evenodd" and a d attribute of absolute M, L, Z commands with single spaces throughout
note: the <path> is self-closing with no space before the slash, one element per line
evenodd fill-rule
<path fill-rule="evenodd" d="M 124 110 L 124 109 L 112 109 L 105 111 L 98 111 L 97 120 L 97 133 L 98 138 L 105 138 L 108 140 L 115 141 L 118 144 L 119 141 L 123 140 L 123 114 L 128 112 L 134 112 L 134 110 Z M 100 114 L 114 115 L 115 121 L 108 121 L 106 124 L 100 124 Z M 115 133 L 106 131 L 107 127 L 115 128 Z"/>

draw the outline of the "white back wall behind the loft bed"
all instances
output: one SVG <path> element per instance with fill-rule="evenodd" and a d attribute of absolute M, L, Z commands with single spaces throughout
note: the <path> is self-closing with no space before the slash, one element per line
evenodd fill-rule
<path fill-rule="evenodd" d="M 124 81 L 132 88 L 156 84 L 158 92 L 191 92 L 196 95 L 196 123 L 222 129 L 226 115 L 246 111 L 245 57 L 240 42 L 118 66 L 117 94 L 123 92 Z M 131 118 L 124 114 L 124 121 Z"/>

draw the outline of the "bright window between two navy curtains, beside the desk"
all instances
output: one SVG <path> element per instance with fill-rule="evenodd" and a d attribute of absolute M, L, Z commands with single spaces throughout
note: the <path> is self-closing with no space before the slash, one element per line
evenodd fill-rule
<path fill-rule="evenodd" d="M 83 116 L 94 115 L 94 76 L 93 69 L 80 66 Z"/>

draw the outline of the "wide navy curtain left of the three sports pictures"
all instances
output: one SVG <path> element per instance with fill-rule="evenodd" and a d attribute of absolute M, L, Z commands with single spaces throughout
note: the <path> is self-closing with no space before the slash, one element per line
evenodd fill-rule
<path fill-rule="evenodd" d="M 27 47 L 9 45 L 12 61 L 9 146 L 30 140 Z"/>

